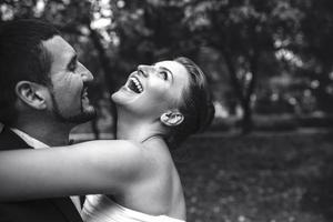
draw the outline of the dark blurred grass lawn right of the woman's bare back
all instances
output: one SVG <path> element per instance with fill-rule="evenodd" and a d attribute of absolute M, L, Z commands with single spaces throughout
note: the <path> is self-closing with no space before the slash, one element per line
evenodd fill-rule
<path fill-rule="evenodd" d="M 188 221 L 333 221 L 332 135 L 191 138 L 175 154 Z"/>

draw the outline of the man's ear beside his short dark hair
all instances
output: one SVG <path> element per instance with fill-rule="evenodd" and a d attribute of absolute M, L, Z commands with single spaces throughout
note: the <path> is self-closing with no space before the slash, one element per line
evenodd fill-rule
<path fill-rule="evenodd" d="M 30 81 L 20 81 L 16 85 L 17 97 L 29 107 L 38 110 L 47 108 L 43 91 L 44 87 Z"/>

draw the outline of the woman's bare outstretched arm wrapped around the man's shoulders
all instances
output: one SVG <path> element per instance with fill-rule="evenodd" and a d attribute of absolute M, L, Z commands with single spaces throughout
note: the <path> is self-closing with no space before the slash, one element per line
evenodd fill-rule
<path fill-rule="evenodd" d="M 0 201 L 119 192 L 140 176 L 142 149 L 129 141 L 0 152 Z"/>

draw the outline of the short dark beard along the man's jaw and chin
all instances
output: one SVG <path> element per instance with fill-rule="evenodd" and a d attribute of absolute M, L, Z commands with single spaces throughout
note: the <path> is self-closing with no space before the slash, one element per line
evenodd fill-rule
<path fill-rule="evenodd" d="M 52 99 L 52 103 L 53 103 L 53 109 L 52 109 L 53 114 L 56 115 L 56 118 L 59 121 L 61 121 L 63 123 L 80 124 L 80 123 L 88 122 L 97 117 L 95 109 L 93 109 L 91 111 L 84 111 L 83 107 L 82 107 L 82 102 L 80 102 L 80 113 L 78 113 L 75 115 L 71 115 L 71 117 L 63 117 L 63 114 L 61 113 L 61 111 L 59 109 L 59 104 L 58 104 L 53 93 L 51 93 L 51 99 Z"/>

